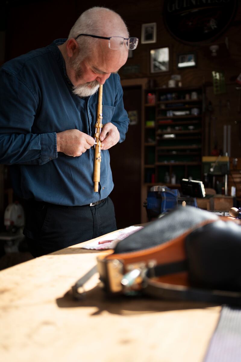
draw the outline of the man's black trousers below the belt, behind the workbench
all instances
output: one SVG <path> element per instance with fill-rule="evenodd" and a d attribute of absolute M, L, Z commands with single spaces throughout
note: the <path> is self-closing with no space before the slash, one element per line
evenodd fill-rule
<path fill-rule="evenodd" d="M 107 197 L 94 206 L 61 206 L 29 202 L 24 235 L 34 257 L 116 230 L 113 202 Z"/>

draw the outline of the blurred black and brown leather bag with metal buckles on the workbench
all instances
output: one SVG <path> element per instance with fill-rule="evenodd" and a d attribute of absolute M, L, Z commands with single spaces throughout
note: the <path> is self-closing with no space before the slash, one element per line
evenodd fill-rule
<path fill-rule="evenodd" d="M 179 207 L 98 257 L 111 295 L 241 304 L 241 226 L 193 206 Z"/>

